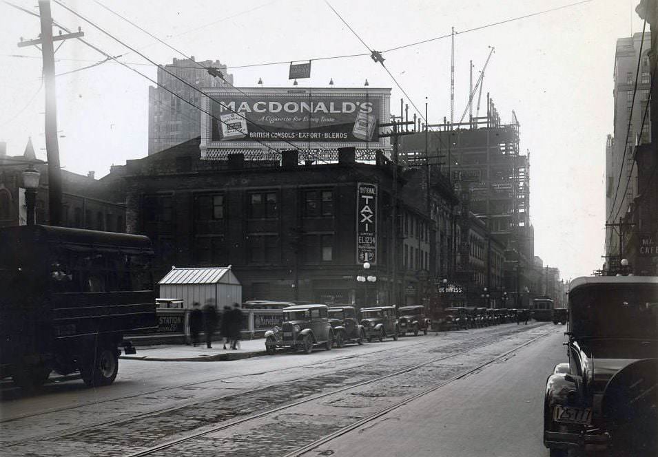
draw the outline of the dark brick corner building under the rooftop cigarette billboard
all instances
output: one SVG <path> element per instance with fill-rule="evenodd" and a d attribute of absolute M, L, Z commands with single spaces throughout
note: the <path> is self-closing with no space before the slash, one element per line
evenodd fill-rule
<path fill-rule="evenodd" d="M 367 163 L 355 162 L 352 152 L 339 163 L 298 164 L 296 151 L 284 151 L 280 161 L 240 154 L 212 161 L 201 160 L 199 145 L 189 140 L 114 170 L 125 180 L 127 230 L 154 242 L 156 275 L 172 265 L 231 264 L 245 299 L 428 300 L 438 276 L 437 232 L 418 192 L 405 193 L 420 184 L 400 172 L 394 240 L 393 166 L 382 154 L 371 151 L 376 160 Z M 364 273 L 357 257 L 359 183 L 378 187 L 376 262 L 367 272 L 377 280 L 365 284 L 356 281 Z M 430 196 L 440 200 L 435 187 Z"/>

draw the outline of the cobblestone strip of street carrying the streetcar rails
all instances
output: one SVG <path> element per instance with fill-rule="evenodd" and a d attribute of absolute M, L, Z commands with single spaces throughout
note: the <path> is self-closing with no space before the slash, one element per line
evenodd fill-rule
<path fill-rule="evenodd" d="M 8 456 L 126 456 L 198 435 L 152 449 L 153 455 L 260 456 L 263 449 L 268 456 L 285 455 L 552 330 L 507 324 L 354 346 L 349 357 L 347 348 L 307 357 L 276 354 L 240 362 L 259 371 L 235 376 L 229 375 L 234 368 L 229 364 L 238 362 L 206 363 L 225 376 L 187 385 L 179 374 L 180 387 L 3 418 L 0 451 Z M 298 359 L 298 365 L 265 368 L 288 358 Z M 167 362 L 141 363 L 146 369 Z"/>

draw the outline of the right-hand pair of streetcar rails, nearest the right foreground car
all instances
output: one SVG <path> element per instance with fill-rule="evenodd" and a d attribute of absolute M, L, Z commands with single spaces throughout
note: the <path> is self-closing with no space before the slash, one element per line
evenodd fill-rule
<path fill-rule="evenodd" d="M 490 363 L 493 363 L 497 359 L 500 359 L 501 357 L 505 357 L 506 355 L 510 354 L 511 352 L 514 352 L 515 350 L 518 350 L 518 349 L 520 349 L 520 348 L 522 348 L 522 347 L 524 347 L 524 346 L 526 346 L 530 343 L 533 343 L 534 341 L 537 341 L 537 339 L 539 339 L 539 338 L 546 337 L 546 335 L 548 335 L 550 333 L 551 333 L 551 331 L 539 334 L 539 336 L 531 339 L 530 341 L 526 341 L 525 343 L 522 343 L 520 346 L 517 346 L 517 347 L 513 348 L 512 350 L 510 350 L 508 352 L 505 352 L 504 354 L 500 354 L 499 356 L 491 359 L 490 361 L 487 361 L 486 363 L 480 364 L 475 368 L 469 369 L 466 372 L 458 374 L 457 376 L 453 376 L 453 378 L 449 379 L 448 381 L 444 381 L 444 383 L 441 383 L 440 385 L 438 385 L 438 387 L 433 386 L 431 388 L 431 390 L 426 390 L 426 391 L 423 391 L 424 393 L 423 392 L 421 392 L 421 393 L 422 394 L 429 393 L 432 390 L 437 390 L 439 387 L 442 387 L 443 385 L 446 385 L 447 383 L 456 381 L 457 379 L 461 379 L 462 377 L 466 376 L 467 374 L 469 374 L 469 373 L 471 373 L 475 370 L 480 370 L 484 366 L 489 365 Z M 470 352 L 471 350 L 478 349 L 478 348 L 484 348 L 486 346 L 491 346 L 491 345 L 496 344 L 496 343 L 500 343 L 500 339 L 497 340 L 497 341 L 491 341 L 490 343 L 482 344 L 480 346 L 475 346 L 473 348 L 467 348 L 467 349 L 462 350 L 460 352 L 455 352 L 453 354 L 445 355 L 443 357 L 438 357 L 436 359 L 432 359 L 431 361 L 426 361 L 426 362 L 423 362 L 423 363 L 419 363 L 419 364 L 413 365 L 411 367 L 407 367 L 407 368 L 403 368 L 402 370 L 395 371 L 393 373 L 385 374 L 383 376 L 378 376 L 378 377 L 373 378 L 373 379 L 368 379 L 366 381 L 362 381 L 360 383 L 356 383 L 356 384 L 353 384 L 353 385 L 348 385 L 348 386 L 345 386 L 345 387 L 341 387 L 339 389 L 332 390 L 331 392 L 322 392 L 320 394 L 307 396 L 305 398 L 302 398 L 298 401 L 294 401 L 292 403 L 287 403 L 285 405 L 274 407 L 272 409 L 269 409 L 269 410 L 266 410 L 266 411 L 263 411 L 263 412 L 259 412 L 259 413 L 256 413 L 256 414 L 251 414 L 251 415 L 247 415 L 245 417 L 241 417 L 241 418 L 237 418 L 237 419 L 234 419 L 234 420 L 227 421 L 226 423 L 223 423 L 221 425 L 210 425 L 210 426 L 206 426 L 206 427 L 199 427 L 199 428 L 195 429 L 193 432 L 191 432 L 189 434 L 186 434 L 185 436 L 181 436 L 179 438 L 174 438 L 172 440 L 165 441 L 164 443 L 160 443 L 158 445 L 149 447 L 147 449 L 142 449 L 140 451 L 133 452 L 132 454 L 127 454 L 125 457 L 148 456 L 150 454 L 154 454 L 157 451 L 168 449 L 169 447 L 173 447 L 175 445 L 185 443 L 189 440 L 194 440 L 195 438 L 199 438 L 199 437 L 205 436 L 207 434 L 211 434 L 211 433 L 214 433 L 214 432 L 219 432 L 221 430 L 225 430 L 225 429 L 228 429 L 230 427 L 234 427 L 235 425 L 243 424 L 243 423 L 246 423 L 246 422 L 249 422 L 249 421 L 254 421 L 258 418 L 262 418 L 262 417 L 268 416 L 270 414 L 274 414 L 274 413 L 277 413 L 277 412 L 280 412 L 280 411 L 283 411 L 283 410 L 287 410 L 291 407 L 296 407 L 296 406 L 302 405 L 304 403 L 309 403 L 311 401 L 316 401 L 320 398 L 325 398 L 327 396 L 335 395 L 335 394 L 338 394 L 340 392 L 345 392 L 347 390 L 352 390 L 352 389 L 355 389 L 357 387 L 362 387 L 363 385 L 369 385 L 369 384 L 372 384 L 372 383 L 376 383 L 378 381 L 382 381 L 383 379 L 388 379 L 388 378 L 391 378 L 393 376 L 400 376 L 400 374 L 405 374 L 405 373 L 411 372 L 413 370 L 418 370 L 419 368 L 422 368 L 426 365 L 430 365 L 431 363 L 436 363 L 438 361 L 442 361 L 442 360 L 445 360 L 445 359 L 451 359 L 453 357 L 457 357 L 458 355 L 462 355 L 462 354 L 465 354 L 467 352 Z M 403 403 L 408 403 L 412 399 L 418 398 L 418 396 L 421 396 L 421 395 L 416 394 L 416 395 L 408 398 L 407 401 L 400 402 L 398 407 L 400 407 Z M 393 408 L 393 409 L 395 409 L 395 408 Z M 384 411 L 384 410 L 382 410 L 382 411 Z M 382 414 L 385 414 L 387 412 L 387 410 L 384 411 L 384 412 L 382 412 L 382 411 L 380 411 L 376 414 L 379 414 L 381 416 Z M 370 418 L 370 420 L 373 420 L 376 417 L 369 416 L 368 418 Z M 360 422 L 361 421 L 359 421 L 359 423 Z M 347 428 L 348 427 L 345 427 L 345 429 L 347 429 Z M 317 447 L 317 446 L 318 445 L 314 445 L 313 447 Z M 296 455 L 296 454 L 292 454 L 292 455 Z"/>

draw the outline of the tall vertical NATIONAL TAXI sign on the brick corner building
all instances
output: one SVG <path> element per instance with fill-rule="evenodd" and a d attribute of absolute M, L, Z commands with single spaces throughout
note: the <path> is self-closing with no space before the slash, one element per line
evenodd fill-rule
<path fill-rule="evenodd" d="M 377 264 L 377 184 L 358 183 L 356 262 Z"/>

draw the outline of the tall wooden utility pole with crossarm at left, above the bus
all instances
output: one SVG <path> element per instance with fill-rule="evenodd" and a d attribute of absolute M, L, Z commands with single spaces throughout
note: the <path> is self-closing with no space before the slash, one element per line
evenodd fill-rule
<path fill-rule="evenodd" d="M 41 45 L 43 60 L 43 85 L 45 87 L 45 151 L 48 157 L 48 208 L 50 225 L 61 224 L 62 182 L 59 166 L 59 144 L 57 142 L 57 105 L 55 88 L 54 41 L 84 36 L 80 30 L 69 34 L 52 36 L 50 0 L 39 0 L 41 35 L 36 40 L 21 40 L 19 47 Z M 38 46 L 37 46 L 38 48 Z M 58 48 L 59 49 L 59 48 Z"/>

